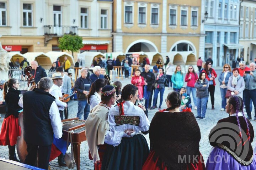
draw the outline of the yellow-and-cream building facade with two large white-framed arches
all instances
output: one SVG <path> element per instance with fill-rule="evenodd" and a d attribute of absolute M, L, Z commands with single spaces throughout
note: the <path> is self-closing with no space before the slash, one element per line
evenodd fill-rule
<path fill-rule="evenodd" d="M 204 55 L 201 0 L 115 0 L 113 9 L 113 52 Z"/>

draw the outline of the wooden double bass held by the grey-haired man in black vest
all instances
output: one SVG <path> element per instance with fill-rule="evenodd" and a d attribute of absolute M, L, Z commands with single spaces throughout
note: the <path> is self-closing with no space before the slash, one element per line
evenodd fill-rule
<path fill-rule="evenodd" d="M 24 72 L 25 74 L 27 75 L 28 77 L 28 85 L 32 83 L 32 85 L 35 85 L 35 80 L 34 80 L 34 76 L 30 73 L 32 70 L 32 67 L 31 66 L 27 66 L 25 67 L 24 69 Z M 20 159 L 20 161 L 22 163 L 25 162 L 25 159 L 26 159 L 26 156 L 27 156 L 27 143 L 26 141 L 24 140 L 24 125 L 23 125 L 23 112 L 21 112 L 19 114 L 19 117 L 18 117 L 18 124 L 20 125 L 20 128 L 21 128 L 21 136 L 18 136 L 17 138 L 17 154 L 18 154 L 18 157 Z"/>

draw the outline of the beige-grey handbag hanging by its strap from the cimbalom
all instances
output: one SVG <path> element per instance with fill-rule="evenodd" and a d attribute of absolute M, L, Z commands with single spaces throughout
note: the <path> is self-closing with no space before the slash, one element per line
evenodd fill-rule
<path fill-rule="evenodd" d="M 67 151 L 66 151 L 66 154 L 65 154 L 65 158 L 64 158 L 64 161 L 66 163 L 66 166 L 69 168 L 69 169 L 73 169 L 75 167 L 75 159 L 74 159 L 74 151 L 73 151 L 73 142 L 72 142 L 72 136 L 71 136 L 71 133 L 73 133 L 74 131 L 69 131 L 68 133 L 68 141 L 67 141 Z M 69 136 L 70 136 L 70 142 L 71 142 L 71 153 L 68 153 L 68 146 L 69 146 Z"/>

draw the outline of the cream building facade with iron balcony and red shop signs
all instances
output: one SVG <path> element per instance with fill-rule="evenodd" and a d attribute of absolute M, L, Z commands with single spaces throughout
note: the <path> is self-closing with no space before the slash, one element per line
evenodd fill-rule
<path fill-rule="evenodd" d="M 112 52 L 112 0 L 0 0 L 0 39 L 7 51 L 59 51 L 64 34 L 82 51 Z"/>

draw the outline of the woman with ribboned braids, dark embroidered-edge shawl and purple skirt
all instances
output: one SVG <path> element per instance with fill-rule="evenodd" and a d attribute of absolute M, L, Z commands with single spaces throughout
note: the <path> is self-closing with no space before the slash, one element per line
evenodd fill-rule
<path fill-rule="evenodd" d="M 242 98 L 230 96 L 225 109 L 229 117 L 219 120 L 209 134 L 213 148 L 206 169 L 255 170 L 256 157 L 251 146 L 254 130 L 245 118 Z"/>

